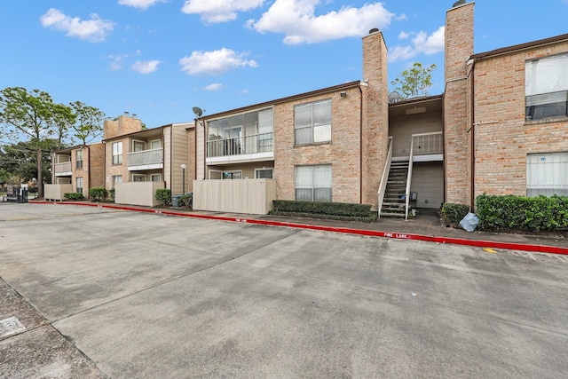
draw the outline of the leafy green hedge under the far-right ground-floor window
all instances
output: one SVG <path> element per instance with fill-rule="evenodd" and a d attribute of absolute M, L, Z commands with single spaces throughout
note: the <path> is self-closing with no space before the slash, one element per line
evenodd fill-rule
<path fill-rule="evenodd" d="M 484 230 L 526 232 L 568 228 L 568 196 L 477 196 L 479 226 Z"/>

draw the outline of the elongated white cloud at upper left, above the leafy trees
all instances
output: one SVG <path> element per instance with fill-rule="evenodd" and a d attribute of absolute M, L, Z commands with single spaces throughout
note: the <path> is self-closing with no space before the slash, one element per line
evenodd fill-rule
<path fill-rule="evenodd" d="M 74 36 L 90 42 L 105 41 L 106 36 L 114 27 L 114 22 L 102 20 L 96 13 L 91 14 L 91 20 L 82 21 L 78 17 L 67 16 L 55 8 L 45 12 L 40 20 L 43 28 L 61 30 L 67 32 L 67 36 Z"/>

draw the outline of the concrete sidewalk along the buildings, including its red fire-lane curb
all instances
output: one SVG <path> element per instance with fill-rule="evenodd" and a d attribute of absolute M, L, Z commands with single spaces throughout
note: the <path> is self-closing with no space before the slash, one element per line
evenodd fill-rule
<path fill-rule="evenodd" d="M 32 203 L 51 201 L 34 200 Z M 149 208 L 133 205 L 121 205 L 110 202 L 59 201 L 57 205 L 83 205 L 110 209 L 160 213 L 178 217 L 197 217 L 220 221 L 240 222 L 256 225 L 272 225 L 321 230 L 335 233 L 351 233 L 374 237 L 405 240 L 453 243 L 481 248 L 525 250 L 543 253 L 568 255 L 568 238 L 565 234 L 557 236 L 532 235 L 517 233 L 466 232 L 462 229 L 448 228 L 441 225 L 436 209 L 419 209 L 414 219 L 403 220 L 383 217 L 374 223 L 354 221 L 323 220 L 318 218 L 282 217 L 271 215 L 241 215 L 233 213 L 210 212 L 177 207 Z"/>

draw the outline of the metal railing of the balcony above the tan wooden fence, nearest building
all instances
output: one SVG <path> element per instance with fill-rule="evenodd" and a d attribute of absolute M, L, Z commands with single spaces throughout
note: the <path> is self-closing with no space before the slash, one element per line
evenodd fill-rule
<path fill-rule="evenodd" d="M 209 140 L 207 142 L 207 156 L 270 153 L 273 151 L 272 134 L 270 132 L 246 137 Z"/>

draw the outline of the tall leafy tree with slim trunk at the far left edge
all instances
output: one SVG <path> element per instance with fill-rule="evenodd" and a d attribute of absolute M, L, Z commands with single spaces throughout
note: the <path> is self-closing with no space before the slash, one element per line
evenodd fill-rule
<path fill-rule="evenodd" d="M 28 91 L 23 87 L 0 91 L 0 125 L 4 126 L 4 133 L 12 140 L 28 138 L 36 151 L 39 197 L 43 197 L 42 142 L 56 130 L 60 136 L 65 136 L 62 125 L 67 122 L 66 114 L 65 106 L 56 105 L 47 92 Z M 58 126 L 62 129 L 56 129 Z"/>

